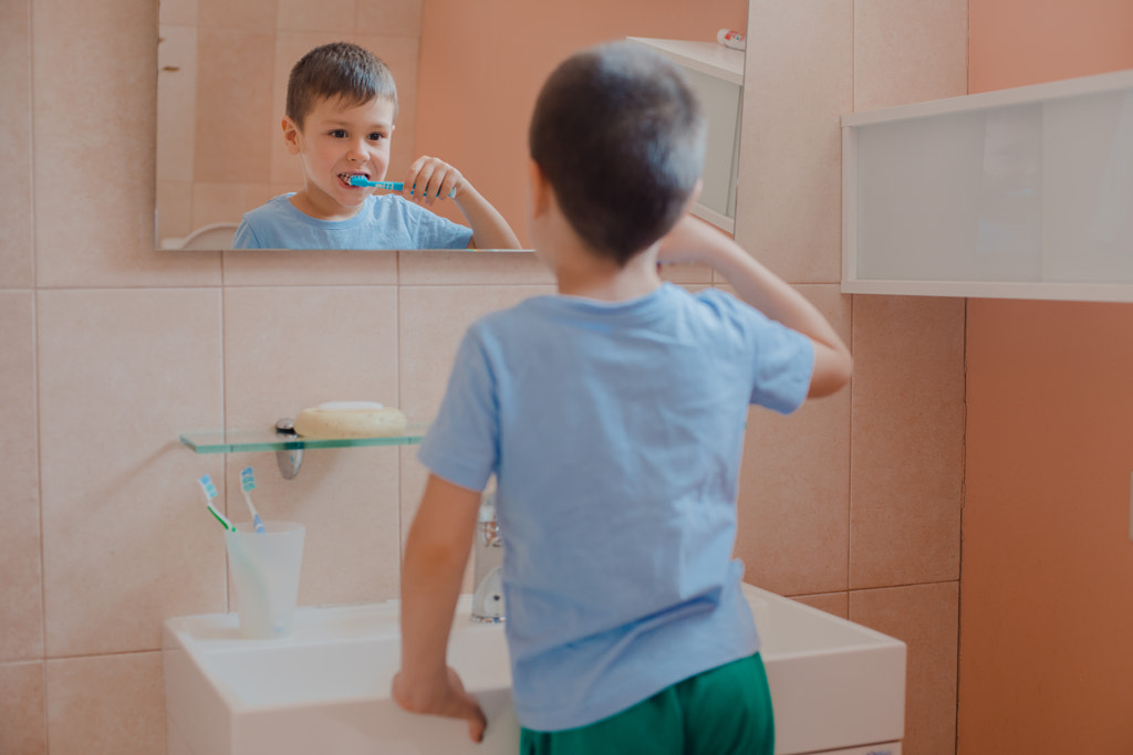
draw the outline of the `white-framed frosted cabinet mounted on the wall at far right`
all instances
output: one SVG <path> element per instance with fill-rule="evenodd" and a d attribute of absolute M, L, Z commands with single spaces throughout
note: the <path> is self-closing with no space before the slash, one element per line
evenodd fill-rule
<path fill-rule="evenodd" d="M 1133 301 L 1133 70 L 842 119 L 842 291 Z"/>

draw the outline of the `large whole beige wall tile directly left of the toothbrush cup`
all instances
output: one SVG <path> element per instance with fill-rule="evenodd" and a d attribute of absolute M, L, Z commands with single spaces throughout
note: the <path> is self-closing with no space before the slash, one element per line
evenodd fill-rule
<path fill-rule="evenodd" d="M 43 574 L 49 658 L 152 650 L 167 616 L 221 610 L 223 540 L 181 432 L 222 421 L 210 289 L 41 291 Z"/>

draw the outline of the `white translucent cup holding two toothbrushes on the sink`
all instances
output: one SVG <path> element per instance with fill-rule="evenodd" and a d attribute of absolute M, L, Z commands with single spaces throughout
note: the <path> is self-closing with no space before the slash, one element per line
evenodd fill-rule
<path fill-rule="evenodd" d="M 225 532 L 228 563 L 236 583 L 240 636 L 249 640 L 286 637 L 295 627 L 299 572 L 306 527 L 293 522 L 264 522 L 256 532 L 250 522 Z"/>

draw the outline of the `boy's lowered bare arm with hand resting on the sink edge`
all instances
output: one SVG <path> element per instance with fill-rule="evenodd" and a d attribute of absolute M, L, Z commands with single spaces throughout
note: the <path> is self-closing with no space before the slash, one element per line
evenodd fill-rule
<path fill-rule="evenodd" d="M 452 616 L 471 550 L 478 492 L 431 474 L 406 539 L 401 567 L 401 671 L 393 698 L 412 713 L 468 721 L 475 741 L 487 719 L 446 664 Z"/>

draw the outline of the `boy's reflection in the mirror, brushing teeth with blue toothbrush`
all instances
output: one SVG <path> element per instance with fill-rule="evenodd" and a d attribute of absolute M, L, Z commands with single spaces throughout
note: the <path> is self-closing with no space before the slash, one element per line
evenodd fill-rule
<path fill-rule="evenodd" d="M 518 249 L 508 222 L 452 165 L 419 157 L 401 195 L 350 178 L 385 179 L 398 91 L 385 65 L 356 44 L 315 48 L 291 69 L 283 141 L 304 188 L 244 215 L 237 249 Z M 471 226 L 425 207 L 450 197 Z"/>

